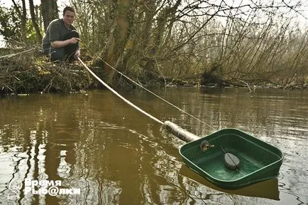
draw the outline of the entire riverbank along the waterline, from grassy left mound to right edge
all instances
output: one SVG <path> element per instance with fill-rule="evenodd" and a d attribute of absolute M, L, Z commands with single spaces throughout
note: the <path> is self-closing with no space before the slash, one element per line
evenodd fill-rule
<path fill-rule="evenodd" d="M 77 61 L 73 63 L 53 63 L 43 56 L 38 48 L 0 49 L 0 94 L 18 93 L 69 93 L 79 90 L 101 88 L 97 80 L 84 69 Z M 16 53 L 19 53 L 16 55 Z M 15 56 L 14 56 L 15 55 Z M 83 57 L 82 61 L 91 68 L 92 59 Z M 102 68 L 91 68 L 99 78 L 104 79 L 106 74 Z M 135 85 L 126 78 L 117 79 L 118 87 L 134 88 Z M 241 79 L 222 80 L 216 73 L 204 72 L 186 76 L 185 78 L 170 78 L 158 76 L 151 79 L 147 85 L 158 86 L 195 86 L 195 87 L 246 87 L 250 92 L 260 88 L 306 89 L 307 83 L 300 85 L 277 85 L 268 80 L 247 81 Z"/>

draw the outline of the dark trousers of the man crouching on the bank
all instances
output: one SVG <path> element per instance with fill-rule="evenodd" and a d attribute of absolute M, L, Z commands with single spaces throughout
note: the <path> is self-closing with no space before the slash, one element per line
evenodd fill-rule
<path fill-rule="evenodd" d="M 70 39 L 70 38 L 79 38 L 79 33 L 75 30 L 68 33 L 63 41 Z M 50 55 L 50 61 L 73 61 L 75 52 L 79 49 L 79 42 L 74 44 L 68 44 L 67 46 L 61 48 L 53 48 L 50 47 L 50 51 L 45 54 Z"/>

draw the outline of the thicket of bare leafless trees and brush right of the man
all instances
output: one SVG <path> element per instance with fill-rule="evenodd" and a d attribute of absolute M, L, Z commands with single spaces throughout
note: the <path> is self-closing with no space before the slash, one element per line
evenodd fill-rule
<path fill-rule="evenodd" d="M 209 72 L 220 82 L 290 84 L 307 62 L 307 38 L 297 33 L 302 44 L 292 44 L 287 37 L 291 17 L 300 10 L 299 0 L 286 2 L 73 0 L 72 4 L 83 45 L 143 82 Z M 101 65 L 113 78 L 109 66 Z M 287 72 L 291 66 L 300 69 Z M 282 68 L 289 75 L 282 76 Z"/>

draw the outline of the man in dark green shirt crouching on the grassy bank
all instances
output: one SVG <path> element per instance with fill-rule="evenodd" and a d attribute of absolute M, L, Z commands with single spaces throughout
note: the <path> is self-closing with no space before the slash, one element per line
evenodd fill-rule
<path fill-rule="evenodd" d="M 75 19 L 75 9 L 66 6 L 63 9 L 63 19 L 50 22 L 42 41 L 45 55 L 50 56 L 50 61 L 72 61 L 80 56 L 79 33 L 72 26 Z"/>

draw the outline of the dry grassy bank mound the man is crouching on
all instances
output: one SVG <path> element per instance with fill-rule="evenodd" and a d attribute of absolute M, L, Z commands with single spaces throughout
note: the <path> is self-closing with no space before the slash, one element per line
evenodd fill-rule
<path fill-rule="evenodd" d="M 4 54 L 5 52 L 5 54 Z M 17 51 L 18 52 L 18 51 Z M 15 53 L 17 53 L 15 51 Z M 90 74 L 78 63 L 52 63 L 38 49 L 16 56 L 1 49 L 0 93 L 67 93 L 93 85 Z"/>

